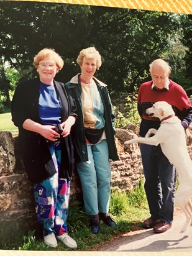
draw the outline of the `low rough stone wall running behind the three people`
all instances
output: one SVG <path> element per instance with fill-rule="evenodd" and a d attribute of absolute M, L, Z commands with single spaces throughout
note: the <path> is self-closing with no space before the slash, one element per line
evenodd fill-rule
<path fill-rule="evenodd" d="M 135 146 L 125 151 L 123 143 L 130 137 L 126 130 L 117 130 L 116 143 L 119 161 L 111 162 L 112 188 L 129 190 L 140 180 L 142 166 L 139 148 Z M 81 185 L 75 171 L 71 182 L 71 196 L 83 202 Z M 17 135 L 0 132 L 0 219 L 1 221 L 28 222 L 35 221 L 32 185 L 24 170 L 18 146 Z"/>

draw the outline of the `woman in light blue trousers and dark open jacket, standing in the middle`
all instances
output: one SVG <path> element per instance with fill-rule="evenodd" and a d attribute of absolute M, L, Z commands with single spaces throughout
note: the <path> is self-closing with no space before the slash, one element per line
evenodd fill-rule
<path fill-rule="evenodd" d="M 77 63 L 81 73 L 66 83 L 78 114 L 71 135 L 85 211 L 90 216 L 89 227 L 98 234 L 99 219 L 107 226 L 116 226 L 108 214 L 111 194 L 109 159 L 119 160 L 114 140 L 115 117 L 106 85 L 94 78 L 95 71 L 101 66 L 99 52 L 94 47 L 83 49 Z"/>

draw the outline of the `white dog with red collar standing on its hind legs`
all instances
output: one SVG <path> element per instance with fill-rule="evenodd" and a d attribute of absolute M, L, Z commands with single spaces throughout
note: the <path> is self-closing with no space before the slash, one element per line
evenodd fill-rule
<path fill-rule="evenodd" d="M 165 101 L 153 104 L 146 109 L 146 113 L 160 119 L 160 128 L 149 129 L 145 138 L 138 137 L 128 140 L 127 143 L 140 142 L 155 146 L 160 144 L 164 155 L 178 171 L 179 186 L 175 199 L 186 216 L 185 224 L 181 229 L 181 232 L 185 232 L 189 223 L 192 226 L 192 162 L 186 147 L 185 129 L 181 126 L 180 119 L 175 116 L 171 105 Z M 151 135 L 153 136 L 150 137 Z"/>

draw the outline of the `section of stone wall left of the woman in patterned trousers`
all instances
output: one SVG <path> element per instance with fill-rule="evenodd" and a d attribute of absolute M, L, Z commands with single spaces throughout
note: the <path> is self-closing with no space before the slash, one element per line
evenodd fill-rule
<path fill-rule="evenodd" d="M 34 222 L 32 186 L 24 171 L 18 137 L 0 132 L 0 219 Z"/>

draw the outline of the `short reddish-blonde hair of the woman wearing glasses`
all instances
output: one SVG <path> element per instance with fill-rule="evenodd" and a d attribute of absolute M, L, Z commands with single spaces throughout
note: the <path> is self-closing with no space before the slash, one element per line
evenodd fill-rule
<path fill-rule="evenodd" d="M 55 52 L 55 50 L 52 48 L 43 48 L 42 50 L 40 50 L 39 53 L 37 53 L 37 55 L 35 55 L 35 57 L 34 57 L 35 68 L 38 68 L 39 62 L 46 57 L 53 58 L 53 60 L 55 60 L 55 63 L 59 70 L 61 70 L 63 68 L 64 61 L 63 61 L 62 57 L 60 57 L 60 55 L 57 52 Z"/>

